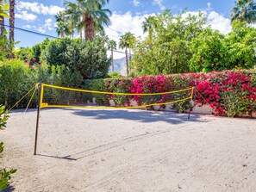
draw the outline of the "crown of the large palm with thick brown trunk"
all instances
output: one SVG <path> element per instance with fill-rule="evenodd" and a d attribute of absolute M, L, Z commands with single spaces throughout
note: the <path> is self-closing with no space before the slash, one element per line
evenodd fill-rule
<path fill-rule="evenodd" d="M 93 40 L 96 32 L 104 31 L 103 25 L 109 25 L 109 9 L 103 6 L 109 0 L 77 0 L 77 3 L 66 2 L 67 13 L 78 22 L 78 30 L 84 29 L 85 40 Z"/>

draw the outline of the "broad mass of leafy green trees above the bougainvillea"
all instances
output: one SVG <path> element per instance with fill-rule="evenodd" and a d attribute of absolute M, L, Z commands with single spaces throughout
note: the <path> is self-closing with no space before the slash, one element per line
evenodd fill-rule
<path fill-rule="evenodd" d="M 221 34 L 207 27 L 205 15 L 170 11 L 146 18 L 147 38 L 134 46 L 134 76 L 249 69 L 255 65 L 256 29 L 233 22 Z"/>

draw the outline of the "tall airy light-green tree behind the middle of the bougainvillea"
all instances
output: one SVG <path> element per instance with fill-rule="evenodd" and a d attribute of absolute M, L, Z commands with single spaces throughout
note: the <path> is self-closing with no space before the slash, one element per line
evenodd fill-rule
<path fill-rule="evenodd" d="M 172 15 L 169 10 L 150 17 L 149 35 L 134 46 L 133 65 L 140 75 L 189 71 L 190 41 L 203 31 L 204 15 Z M 146 23 L 143 23 L 145 27 Z M 143 28 L 144 28 L 143 27 Z M 146 29 L 146 27 L 145 27 Z"/>

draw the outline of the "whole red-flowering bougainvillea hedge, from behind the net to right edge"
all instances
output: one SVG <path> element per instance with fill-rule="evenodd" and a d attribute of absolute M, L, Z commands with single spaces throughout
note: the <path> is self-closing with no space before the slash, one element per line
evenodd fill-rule
<path fill-rule="evenodd" d="M 97 81 L 97 82 L 96 82 Z M 100 81 L 101 83 L 99 84 Z M 134 78 L 107 78 L 91 80 L 90 86 L 85 81 L 86 88 L 121 93 L 160 93 L 172 90 L 182 90 L 196 85 L 197 94 L 194 100 L 197 105 L 208 104 L 213 108 L 214 115 L 237 117 L 256 114 L 256 71 L 212 71 L 210 73 L 185 73 L 166 76 L 144 76 Z M 162 103 L 188 96 L 189 91 L 166 96 L 108 96 L 95 95 L 100 104 L 109 104 L 109 100 L 118 106 L 129 106 L 130 100 L 138 105 Z M 184 112 L 190 104 L 177 102 L 173 105 L 179 112 Z M 165 106 L 161 106 L 163 109 Z"/>

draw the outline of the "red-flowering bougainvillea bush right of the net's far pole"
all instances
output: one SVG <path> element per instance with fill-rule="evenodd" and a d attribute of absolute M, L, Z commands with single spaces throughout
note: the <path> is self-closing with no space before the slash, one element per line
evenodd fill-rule
<path fill-rule="evenodd" d="M 256 71 L 213 71 L 197 80 L 197 90 L 197 103 L 209 104 L 215 115 L 256 114 Z"/>

